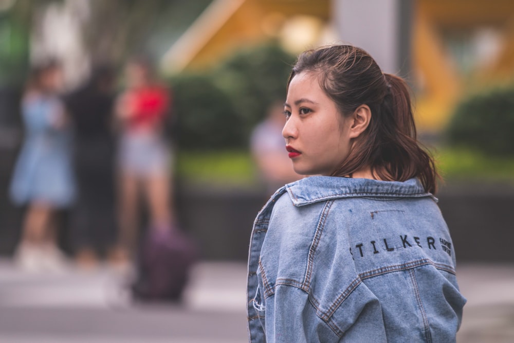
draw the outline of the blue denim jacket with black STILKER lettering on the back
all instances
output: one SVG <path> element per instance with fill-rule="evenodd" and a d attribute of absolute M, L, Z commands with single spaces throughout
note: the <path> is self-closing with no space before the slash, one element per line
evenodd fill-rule
<path fill-rule="evenodd" d="M 250 342 L 452 342 L 466 299 L 448 227 L 417 179 L 311 176 L 255 219 Z"/>

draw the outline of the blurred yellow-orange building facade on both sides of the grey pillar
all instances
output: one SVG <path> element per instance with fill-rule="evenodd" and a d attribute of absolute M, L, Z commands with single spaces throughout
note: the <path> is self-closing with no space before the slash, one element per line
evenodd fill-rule
<path fill-rule="evenodd" d="M 170 74 L 209 68 L 238 48 L 269 39 L 295 53 L 344 41 L 344 33 L 334 29 L 338 1 L 344 11 L 345 0 L 214 0 L 169 49 L 162 67 Z M 401 1 L 407 0 L 396 4 Z M 408 79 L 415 89 L 416 121 L 420 131 L 435 132 L 464 95 L 514 81 L 514 1 L 412 0 L 410 5 L 402 15 L 410 16 Z"/>

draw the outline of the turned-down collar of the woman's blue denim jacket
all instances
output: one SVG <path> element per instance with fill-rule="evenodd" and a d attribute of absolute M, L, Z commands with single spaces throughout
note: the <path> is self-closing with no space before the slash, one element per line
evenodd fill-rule
<path fill-rule="evenodd" d="M 417 178 L 405 182 L 367 178 L 309 176 L 287 184 L 287 193 L 295 206 L 345 197 L 424 197 L 437 198 L 425 191 Z"/>

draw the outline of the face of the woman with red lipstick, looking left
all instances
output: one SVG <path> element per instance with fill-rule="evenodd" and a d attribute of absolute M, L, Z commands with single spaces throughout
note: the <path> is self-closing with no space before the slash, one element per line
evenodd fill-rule
<path fill-rule="evenodd" d="M 331 175 L 351 148 L 351 119 L 321 89 L 315 74 L 291 80 L 285 103 L 282 135 L 293 168 L 302 175 Z"/>

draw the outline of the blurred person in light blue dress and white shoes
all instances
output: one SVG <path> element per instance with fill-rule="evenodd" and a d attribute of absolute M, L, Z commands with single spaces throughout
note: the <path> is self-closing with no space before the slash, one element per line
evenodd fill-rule
<path fill-rule="evenodd" d="M 65 259 L 57 247 L 56 212 L 75 198 L 71 131 L 59 98 L 62 69 L 54 60 L 35 66 L 22 98 L 25 138 L 16 161 L 10 195 L 26 206 L 15 260 L 28 270 L 60 270 Z"/>

